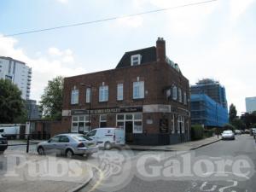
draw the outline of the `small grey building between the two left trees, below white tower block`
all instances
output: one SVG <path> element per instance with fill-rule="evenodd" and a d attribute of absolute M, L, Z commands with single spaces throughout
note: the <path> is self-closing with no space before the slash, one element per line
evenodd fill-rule
<path fill-rule="evenodd" d="M 26 100 L 26 111 L 28 120 L 42 118 L 42 112 L 39 109 L 39 105 L 37 105 L 37 101 L 35 100 Z"/>

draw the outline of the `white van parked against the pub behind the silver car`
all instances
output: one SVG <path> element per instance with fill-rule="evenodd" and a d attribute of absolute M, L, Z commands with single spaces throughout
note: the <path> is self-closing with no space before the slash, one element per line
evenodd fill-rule
<path fill-rule="evenodd" d="M 125 131 L 122 128 L 96 128 L 87 133 L 99 147 L 110 149 L 114 146 L 125 144 Z"/>

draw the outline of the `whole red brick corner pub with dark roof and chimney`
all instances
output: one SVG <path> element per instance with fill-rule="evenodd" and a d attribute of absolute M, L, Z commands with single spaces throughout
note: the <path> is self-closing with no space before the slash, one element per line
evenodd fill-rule
<path fill-rule="evenodd" d="M 125 143 L 190 140 L 189 80 L 166 56 L 166 41 L 126 52 L 116 68 L 64 79 L 62 125 L 71 132 L 120 127 Z"/>

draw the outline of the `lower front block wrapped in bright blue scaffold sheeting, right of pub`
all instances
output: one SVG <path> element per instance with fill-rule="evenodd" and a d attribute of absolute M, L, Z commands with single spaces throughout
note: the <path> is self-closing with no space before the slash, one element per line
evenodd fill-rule
<path fill-rule="evenodd" d="M 228 109 L 206 94 L 191 95 L 191 124 L 222 127 L 229 122 Z"/>

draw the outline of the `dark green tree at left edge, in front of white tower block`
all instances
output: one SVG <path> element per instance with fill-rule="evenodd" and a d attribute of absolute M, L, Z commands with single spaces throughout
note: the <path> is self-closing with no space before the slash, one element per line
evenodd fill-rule
<path fill-rule="evenodd" d="M 0 79 L 0 123 L 15 123 L 25 113 L 21 91 L 9 79 Z"/>

